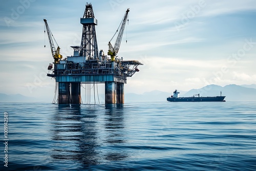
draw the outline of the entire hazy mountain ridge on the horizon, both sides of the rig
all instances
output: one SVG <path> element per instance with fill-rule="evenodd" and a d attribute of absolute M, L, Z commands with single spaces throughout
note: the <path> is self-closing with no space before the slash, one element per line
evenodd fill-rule
<path fill-rule="evenodd" d="M 254 88 L 255 87 L 255 88 Z M 226 101 L 256 101 L 256 84 L 229 84 L 224 87 L 216 84 L 205 86 L 201 89 L 191 89 L 189 91 L 180 91 L 180 97 L 191 97 L 195 94 L 200 96 L 226 96 Z M 142 94 L 125 93 L 124 101 L 166 101 L 166 98 L 171 96 L 173 92 L 164 92 L 160 90 L 153 90 L 144 92 Z M 102 95 L 104 99 L 104 94 Z M 49 99 L 49 102 L 52 99 Z M 0 93 L 0 102 L 40 102 L 42 100 L 35 97 L 28 97 L 22 94 L 7 95 Z M 104 101 L 104 100 L 103 100 Z"/>

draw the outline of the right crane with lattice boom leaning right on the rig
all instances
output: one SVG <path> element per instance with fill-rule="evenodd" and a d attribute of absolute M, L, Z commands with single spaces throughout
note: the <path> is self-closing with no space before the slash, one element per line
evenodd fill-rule
<path fill-rule="evenodd" d="M 115 57 L 119 51 L 119 48 L 120 48 L 120 45 L 121 45 L 121 40 L 122 40 L 122 36 L 123 36 L 123 31 L 124 31 L 124 27 L 125 27 L 125 24 L 126 24 L 126 21 L 128 20 L 129 22 L 129 19 L 127 19 L 128 17 L 128 12 L 130 11 L 130 9 L 128 8 L 123 16 L 123 19 L 118 27 L 118 29 L 120 28 L 119 30 L 119 33 L 118 33 L 118 36 L 116 38 L 116 42 L 115 42 L 115 46 L 113 47 L 111 45 L 111 40 L 114 38 L 114 36 L 116 35 L 116 33 L 118 32 L 118 29 L 116 31 L 116 33 L 114 34 L 114 36 L 111 38 L 111 40 L 109 41 L 109 51 L 108 51 L 108 55 L 111 56 L 111 61 L 115 61 Z"/>

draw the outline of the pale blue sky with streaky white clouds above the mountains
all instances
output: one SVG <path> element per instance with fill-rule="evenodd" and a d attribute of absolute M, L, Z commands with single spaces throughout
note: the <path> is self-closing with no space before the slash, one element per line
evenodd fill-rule
<path fill-rule="evenodd" d="M 52 100 L 55 80 L 46 75 L 53 58 L 43 19 L 61 54 L 70 56 L 70 46 L 80 45 L 87 2 L 104 52 L 130 8 L 118 56 L 144 65 L 127 78 L 125 93 L 256 83 L 256 1 L 13 0 L 0 3 L 0 93 Z"/>

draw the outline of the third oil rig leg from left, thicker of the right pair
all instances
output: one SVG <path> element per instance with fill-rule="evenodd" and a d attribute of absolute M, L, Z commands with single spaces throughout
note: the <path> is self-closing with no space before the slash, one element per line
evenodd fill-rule
<path fill-rule="evenodd" d="M 105 104 L 116 103 L 116 82 L 105 82 Z"/>

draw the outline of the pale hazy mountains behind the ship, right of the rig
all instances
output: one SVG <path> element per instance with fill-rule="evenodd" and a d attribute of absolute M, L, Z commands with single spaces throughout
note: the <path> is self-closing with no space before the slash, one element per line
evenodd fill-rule
<path fill-rule="evenodd" d="M 252 84 L 253 85 L 253 84 Z M 178 90 L 179 91 L 179 90 Z M 188 92 L 179 91 L 180 97 L 191 97 L 196 94 L 200 96 L 226 96 L 226 101 L 256 101 L 256 89 L 230 84 L 221 87 L 215 84 L 205 86 L 201 89 L 192 89 Z M 172 93 L 154 90 L 143 94 L 127 93 L 124 95 L 124 101 L 166 101 L 166 98 Z"/>

